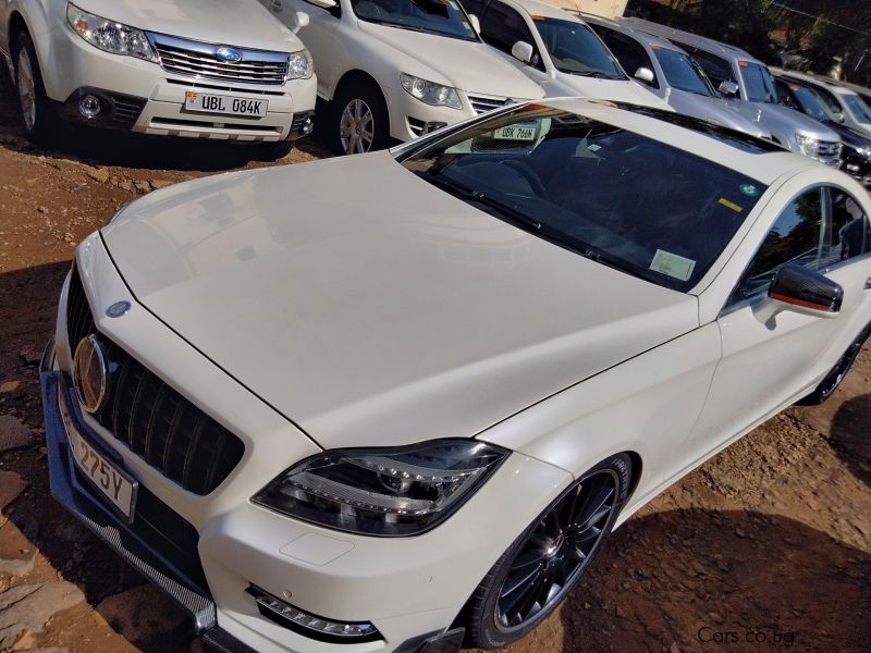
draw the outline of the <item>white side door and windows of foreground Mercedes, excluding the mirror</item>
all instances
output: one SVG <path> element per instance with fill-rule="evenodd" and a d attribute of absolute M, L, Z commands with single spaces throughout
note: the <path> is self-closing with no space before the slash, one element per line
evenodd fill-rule
<path fill-rule="evenodd" d="M 843 189 L 815 185 L 795 194 L 773 220 L 717 319 L 722 360 L 688 441 L 694 459 L 801 398 L 871 320 L 871 236 L 868 217 L 855 207 Z M 760 319 L 774 273 L 788 262 L 842 285 L 835 319 L 788 310 Z"/>

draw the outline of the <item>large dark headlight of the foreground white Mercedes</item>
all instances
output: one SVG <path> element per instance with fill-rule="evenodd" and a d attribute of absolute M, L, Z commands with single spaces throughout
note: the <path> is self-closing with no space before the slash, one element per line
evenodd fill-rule
<path fill-rule="evenodd" d="M 475 440 L 326 452 L 282 473 L 254 501 L 338 530 L 415 535 L 456 510 L 507 453 Z"/>

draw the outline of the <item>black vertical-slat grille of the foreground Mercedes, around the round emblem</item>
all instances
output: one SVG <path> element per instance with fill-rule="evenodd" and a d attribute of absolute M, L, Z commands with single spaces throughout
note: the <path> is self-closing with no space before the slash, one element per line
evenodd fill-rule
<path fill-rule="evenodd" d="M 71 349 L 96 333 L 78 271 L 66 304 Z M 220 485 L 245 453 L 242 441 L 106 336 L 112 369 L 107 405 L 94 417 L 133 453 L 195 494 Z"/>

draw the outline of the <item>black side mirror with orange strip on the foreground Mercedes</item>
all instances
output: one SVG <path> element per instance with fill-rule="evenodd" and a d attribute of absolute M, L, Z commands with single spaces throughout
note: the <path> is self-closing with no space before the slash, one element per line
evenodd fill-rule
<path fill-rule="evenodd" d="M 844 288 L 814 270 L 788 263 L 777 270 L 769 287 L 768 300 L 757 318 L 768 322 L 783 310 L 813 318 L 836 318 L 844 301 Z"/>

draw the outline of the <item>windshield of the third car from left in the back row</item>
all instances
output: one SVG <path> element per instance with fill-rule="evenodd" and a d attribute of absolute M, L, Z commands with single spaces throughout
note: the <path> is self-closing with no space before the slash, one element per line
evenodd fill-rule
<path fill-rule="evenodd" d="M 586 25 L 540 16 L 533 20 L 553 65 L 561 73 L 626 79 L 611 52 Z"/>

